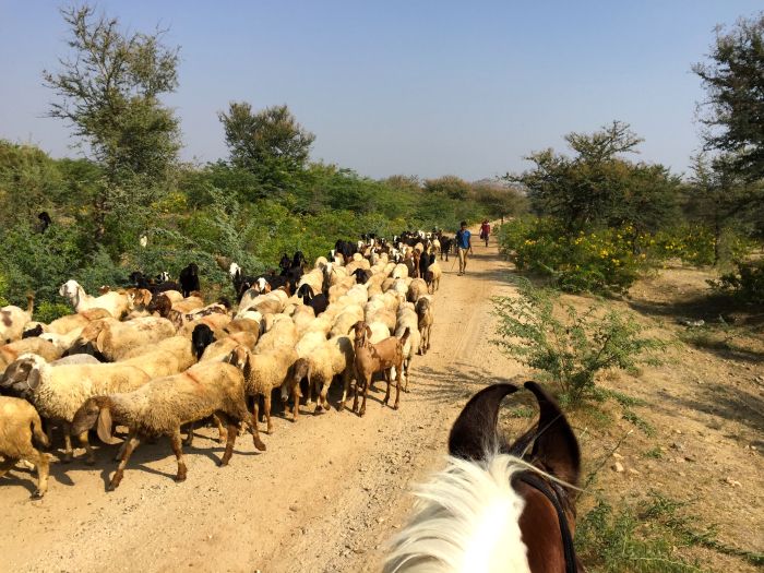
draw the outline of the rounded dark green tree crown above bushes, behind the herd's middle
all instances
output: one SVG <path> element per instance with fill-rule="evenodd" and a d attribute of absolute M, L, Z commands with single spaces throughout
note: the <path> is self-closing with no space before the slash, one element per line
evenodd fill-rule
<path fill-rule="evenodd" d="M 283 188 L 305 168 L 315 135 L 297 122 L 287 106 L 253 112 L 247 102 L 231 102 L 218 114 L 235 167 L 258 175 L 264 183 Z"/>

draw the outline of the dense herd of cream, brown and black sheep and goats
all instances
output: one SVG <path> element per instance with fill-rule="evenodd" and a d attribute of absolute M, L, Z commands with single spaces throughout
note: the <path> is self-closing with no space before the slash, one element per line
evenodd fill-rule
<path fill-rule="evenodd" d="M 262 399 L 271 433 L 272 392 L 280 391 L 285 413 L 297 421 L 300 398 L 317 414 L 330 409 L 329 389 L 342 382 L 345 408 L 363 416 L 372 377 L 386 382 L 384 404 L 395 389 L 407 392 L 411 359 L 430 347 L 433 298 L 453 238 L 406 232 L 392 242 L 375 236 L 338 240 L 327 256 L 306 270 L 301 252 L 285 255 L 274 271 L 247 276 L 227 262 L 238 305 L 205 305 L 199 268 L 190 264 L 178 282 L 167 273 L 148 279 L 130 275 L 131 286 L 85 293 L 76 280 L 59 294 L 72 314 L 49 324 L 32 320 L 28 308 L 0 309 L 0 477 L 23 462 L 37 468 L 33 498 L 47 491 L 53 428 L 63 432 L 63 462 L 73 457 L 74 435 L 95 463 L 88 432 L 121 444 L 109 489 L 119 486 L 141 440 L 167 435 L 177 457 L 176 479 L 186 479 L 182 445 L 194 423 L 211 422 L 225 443 L 220 465 L 240 431 L 258 431 Z M 394 382 L 393 382 L 394 380 Z M 355 382 L 355 384 L 354 384 Z M 303 394 L 305 392 L 305 394 Z M 360 398 L 360 408 L 359 408 Z M 41 420 L 45 420 L 43 426 Z M 127 428 L 124 440 L 114 428 Z M 187 432 L 181 438 L 181 428 Z"/>

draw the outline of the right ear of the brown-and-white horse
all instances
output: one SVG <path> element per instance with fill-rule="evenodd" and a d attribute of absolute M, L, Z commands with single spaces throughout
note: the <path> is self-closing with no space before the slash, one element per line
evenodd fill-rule
<path fill-rule="evenodd" d="M 534 393 L 540 416 L 535 432 L 533 459 L 539 461 L 554 477 L 576 486 L 581 471 L 581 452 L 573 429 L 557 402 L 536 382 L 526 382 Z"/>

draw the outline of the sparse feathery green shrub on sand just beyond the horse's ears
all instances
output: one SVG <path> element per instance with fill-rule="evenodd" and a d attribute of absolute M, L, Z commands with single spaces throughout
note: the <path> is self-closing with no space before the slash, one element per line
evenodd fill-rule
<path fill-rule="evenodd" d="M 496 344 L 558 384 L 563 404 L 610 397 L 596 385 L 599 372 L 611 368 L 634 372 L 638 365 L 657 363 L 656 353 L 666 347 L 662 341 L 641 336 L 643 327 L 631 314 L 602 313 L 598 305 L 578 312 L 560 303 L 549 289 L 536 288 L 525 278 L 515 283 L 517 296 L 493 299 L 501 337 Z"/>

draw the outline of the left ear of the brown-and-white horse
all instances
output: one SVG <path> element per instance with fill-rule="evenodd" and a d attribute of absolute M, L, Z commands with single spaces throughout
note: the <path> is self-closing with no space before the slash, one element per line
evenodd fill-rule
<path fill-rule="evenodd" d="M 499 407 L 504 396 L 517 390 L 513 384 L 493 384 L 475 394 L 451 428 L 449 453 L 465 459 L 482 459 L 498 450 Z"/>

